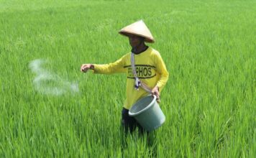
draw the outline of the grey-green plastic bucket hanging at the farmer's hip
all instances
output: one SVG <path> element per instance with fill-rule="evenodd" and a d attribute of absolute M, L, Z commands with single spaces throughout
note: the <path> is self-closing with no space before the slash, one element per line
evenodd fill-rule
<path fill-rule="evenodd" d="M 129 109 L 129 116 L 133 116 L 147 131 L 162 126 L 165 115 L 156 101 L 156 96 L 146 96 L 134 103 Z"/>

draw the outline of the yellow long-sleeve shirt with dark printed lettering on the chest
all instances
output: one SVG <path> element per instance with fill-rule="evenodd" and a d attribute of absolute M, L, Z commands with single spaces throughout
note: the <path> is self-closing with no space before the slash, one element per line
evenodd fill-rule
<path fill-rule="evenodd" d="M 138 78 L 150 88 L 155 85 L 159 90 L 163 90 L 165 83 L 168 80 L 169 73 L 166 70 L 165 62 L 163 62 L 160 53 L 157 50 L 148 47 L 145 52 L 139 55 L 134 55 L 135 68 Z M 131 52 L 127 53 L 116 62 L 105 65 L 94 65 L 94 73 L 112 74 L 112 73 L 127 73 L 127 98 L 124 102 L 124 108 L 131 108 L 140 98 L 147 96 L 148 93 L 143 89 L 134 89 L 134 75 L 131 66 Z"/>

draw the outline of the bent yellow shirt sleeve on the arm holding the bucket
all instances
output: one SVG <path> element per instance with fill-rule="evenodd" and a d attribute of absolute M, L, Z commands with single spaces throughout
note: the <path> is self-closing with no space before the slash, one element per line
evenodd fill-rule
<path fill-rule="evenodd" d="M 156 65 L 157 73 L 159 73 L 160 75 L 160 78 L 157 81 L 157 86 L 159 88 L 159 91 L 162 91 L 163 87 L 168 81 L 169 73 L 168 73 L 168 70 L 166 69 L 165 62 L 163 61 L 159 52 L 156 53 L 155 65 Z"/>

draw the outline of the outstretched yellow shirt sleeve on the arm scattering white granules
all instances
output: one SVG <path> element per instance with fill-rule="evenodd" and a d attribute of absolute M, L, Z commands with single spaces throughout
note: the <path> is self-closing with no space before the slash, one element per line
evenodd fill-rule
<path fill-rule="evenodd" d="M 101 73 L 101 74 L 113 74 L 113 73 L 125 73 L 124 69 L 124 57 L 121 57 L 119 60 L 116 60 L 115 62 L 99 65 L 99 64 L 93 64 L 94 70 L 93 73 Z"/>

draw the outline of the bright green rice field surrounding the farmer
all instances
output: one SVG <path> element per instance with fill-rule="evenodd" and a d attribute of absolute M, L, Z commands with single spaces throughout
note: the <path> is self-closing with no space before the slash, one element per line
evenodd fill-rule
<path fill-rule="evenodd" d="M 139 19 L 170 73 L 150 142 L 120 130 L 126 76 L 80 72 Z M 256 157 L 255 57 L 255 0 L 0 0 L 0 157 Z"/>

